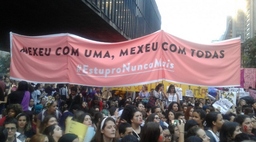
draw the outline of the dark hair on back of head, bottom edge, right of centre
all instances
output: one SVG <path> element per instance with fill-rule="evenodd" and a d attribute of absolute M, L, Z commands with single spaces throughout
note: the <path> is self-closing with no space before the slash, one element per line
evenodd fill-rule
<path fill-rule="evenodd" d="M 160 136 L 160 124 L 155 122 L 146 123 L 141 131 L 140 142 L 157 142 Z"/>

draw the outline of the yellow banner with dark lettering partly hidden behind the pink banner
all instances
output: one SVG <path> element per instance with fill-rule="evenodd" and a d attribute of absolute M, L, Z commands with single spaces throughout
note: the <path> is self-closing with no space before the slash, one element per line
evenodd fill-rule
<path fill-rule="evenodd" d="M 150 84 L 145 84 L 148 87 L 148 91 L 150 92 L 151 89 L 155 89 L 156 86 L 162 82 L 155 82 Z M 195 94 L 195 97 L 197 98 L 204 98 L 206 93 L 208 93 L 208 87 L 202 87 L 202 86 L 194 86 L 194 85 L 185 85 L 180 83 L 173 83 L 173 82 L 166 82 L 163 81 L 164 84 L 164 90 L 167 89 L 167 86 L 169 87 L 171 84 L 173 84 L 175 87 L 182 88 L 182 96 L 185 96 L 185 90 L 192 90 Z M 142 85 L 139 86 L 128 86 L 128 87 L 112 87 L 112 90 L 122 90 L 122 91 L 141 91 Z"/>

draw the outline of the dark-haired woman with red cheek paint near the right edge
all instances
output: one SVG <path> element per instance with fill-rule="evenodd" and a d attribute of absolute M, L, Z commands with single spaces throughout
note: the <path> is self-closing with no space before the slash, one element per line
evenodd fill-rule
<path fill-rule="evenodd" d="M 252 120 L 248 115 L 237 115 L 234 119 L 234 122 L 237 122 L 240 126 L 240 131 L 242 133 L 251 133 L 252 132 Z"/>

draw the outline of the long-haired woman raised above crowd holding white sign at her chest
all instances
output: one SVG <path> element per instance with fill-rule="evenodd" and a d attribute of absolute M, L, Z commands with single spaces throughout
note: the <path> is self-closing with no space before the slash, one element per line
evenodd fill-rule
<path fill-rule="evenodd" d="M 167 99 L 167 101 L 166 101 L 167 107 L 172 102 L 177 102 L 180 104 L 180 97 L 179 97 L 178 93 L 176 93 L 174 85 L 169 86 L 169 88 L 168 88 L 166 94 L 164 94 L 164 96 Z"/>

